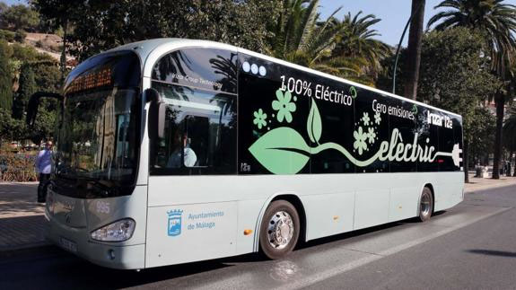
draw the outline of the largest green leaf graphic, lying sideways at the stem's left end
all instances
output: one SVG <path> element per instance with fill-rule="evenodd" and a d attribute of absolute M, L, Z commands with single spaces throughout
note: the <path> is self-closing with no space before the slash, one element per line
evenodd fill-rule
<path fill-rule="evenodd" d="M 309 145 L 290 127 L 267 132 L 249 147 L 249 152 L 275 174 L 295 174 L 310 160 Z"/>

